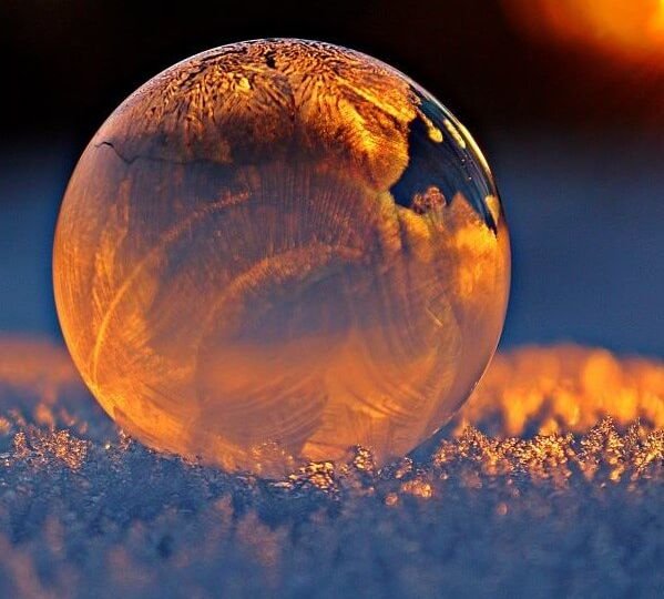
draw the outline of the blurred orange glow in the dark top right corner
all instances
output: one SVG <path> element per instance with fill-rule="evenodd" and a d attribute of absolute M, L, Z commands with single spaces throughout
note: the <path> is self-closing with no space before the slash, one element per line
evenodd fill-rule
<path fill-rule="evenodd" d="M 531 34 L 545 32 L 619 58 L 646 60 L 662 68 L 663 0 L 503 0 L 509 13 Z"/>

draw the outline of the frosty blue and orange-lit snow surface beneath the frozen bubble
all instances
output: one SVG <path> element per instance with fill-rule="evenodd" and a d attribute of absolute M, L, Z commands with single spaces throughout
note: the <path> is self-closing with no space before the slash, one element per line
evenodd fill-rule
<path fill-rule="evenodd" d="M 412 456 L 268 481 L 145 449 L 4 339 L 0 596 L 662 597 L 663 422 L 662 363 L 525 348 Z"/>

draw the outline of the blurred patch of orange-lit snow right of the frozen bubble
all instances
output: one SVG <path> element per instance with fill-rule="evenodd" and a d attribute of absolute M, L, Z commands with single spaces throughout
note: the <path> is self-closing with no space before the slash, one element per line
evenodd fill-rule
<path fill-rule="evenodd" d="M 664 428 L 664 365 L 575 345 L 498 354 L 456 426 L 555 435 L 588 432 L 604 417 Z"/>

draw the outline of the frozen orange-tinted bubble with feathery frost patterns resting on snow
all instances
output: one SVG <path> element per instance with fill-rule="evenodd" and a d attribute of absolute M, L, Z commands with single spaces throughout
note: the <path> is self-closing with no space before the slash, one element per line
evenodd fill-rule
<path fill-rule="evenodd" d="M 139 89 L 71 177 L 58 314 L 83 379 L 157 449 L 273 476 L 384 464 L 491 358 L 508 231 L 482 154 L 395 69 L 298 40 Z"/>

